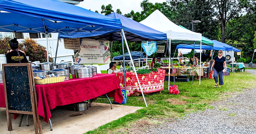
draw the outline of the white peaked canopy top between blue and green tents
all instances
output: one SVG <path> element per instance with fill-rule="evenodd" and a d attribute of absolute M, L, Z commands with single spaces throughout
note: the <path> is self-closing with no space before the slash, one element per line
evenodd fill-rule
<path fill-rule="evenodd" d="M 170 21 L 159 10 L 155 10 L 146 19 L 139 22 L 150 28 L 156 29 L 160 32 L 166 33 L 167 38 L 171 39 L 172 43 L 176 44 L 192 44 L 197 41 L 197 44 L 202 40 L 202 34 L 195 33 L 184 28 L 179 27 Z"/>

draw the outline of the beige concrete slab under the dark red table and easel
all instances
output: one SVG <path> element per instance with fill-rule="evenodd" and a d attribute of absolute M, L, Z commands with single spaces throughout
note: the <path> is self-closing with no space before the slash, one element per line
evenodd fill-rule
<path fill-rule="evenodd" d="M 110 109 L 110 104 L 92 103 L 91 107 L 85 111 L 73 111 L 69 108 L 56 108 L 51 110 L 51 122 L 53 131 L 50 131 L 50 124 L 41 118 L 43 134 L 70 133 L 82 134 L 121 118 L 127 114 L 134 113 L 142 107 L 114 105 Z M 23 117 L 21 127 L 18 127 L 21 116 L 16 120 L 12 117 L 13 131 L 11 134 L 34 134 L 34 123 L 32 115 L 29 115 L 29 125 L 26 126 L 26 115 Z M 10 134 L 7 130 L 6 109 L 0 108 L 0 134 Z"/>

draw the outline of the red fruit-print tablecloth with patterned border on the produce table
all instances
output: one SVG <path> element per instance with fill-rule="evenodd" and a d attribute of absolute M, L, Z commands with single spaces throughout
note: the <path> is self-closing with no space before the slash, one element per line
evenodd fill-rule
<path fill-rule="evenodd" d="M 121 89 L 124 89 L 123 72 L 114 73 L 117 76 Z M 128 96 L 134 92 L 140 92 L 139 84 L 135 73 L 126 72 L 126 90 L 129 91 Z M 138 74 L 139 82 L 141 83 L 143 93 L 157 92 L 163 90 L 165 80 L 165 70 L 159 69 L 158 72 L 150 74 Z"/>

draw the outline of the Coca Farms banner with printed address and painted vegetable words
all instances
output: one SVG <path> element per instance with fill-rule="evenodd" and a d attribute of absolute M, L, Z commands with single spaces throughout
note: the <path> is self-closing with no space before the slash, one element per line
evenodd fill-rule
<path fill-rule="evenodd" d="M 75 62 L 79 64 L 110 63 L 109 41 L 82 39 L 81 50 L 74 50 Z"/>

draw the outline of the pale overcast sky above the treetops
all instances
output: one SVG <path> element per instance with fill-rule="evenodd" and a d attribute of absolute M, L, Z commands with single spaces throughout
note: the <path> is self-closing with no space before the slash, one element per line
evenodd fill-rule
<path fill-rule="evenodd" d="M 85 8 L 85 9 L 91 9 L 91 11 L 97 10 L 99 13 L 101 13 L 101 6 L 107 6 L 109 4 L 112 5 L 112 9 L 114 12 L 119 8 L 122 12 L 122 15 L 130 13 L 131 10 L 134 12 L 141 12 L 142 8 L 140 7 L 140 3 L 143 0 L 84 0 L 83 2 L 80 2 L 79 7 Z M 163 3 L 166 2 L 166 0 L 149 0 L 149 2 L 155 4 L 155 3 Z"/>

